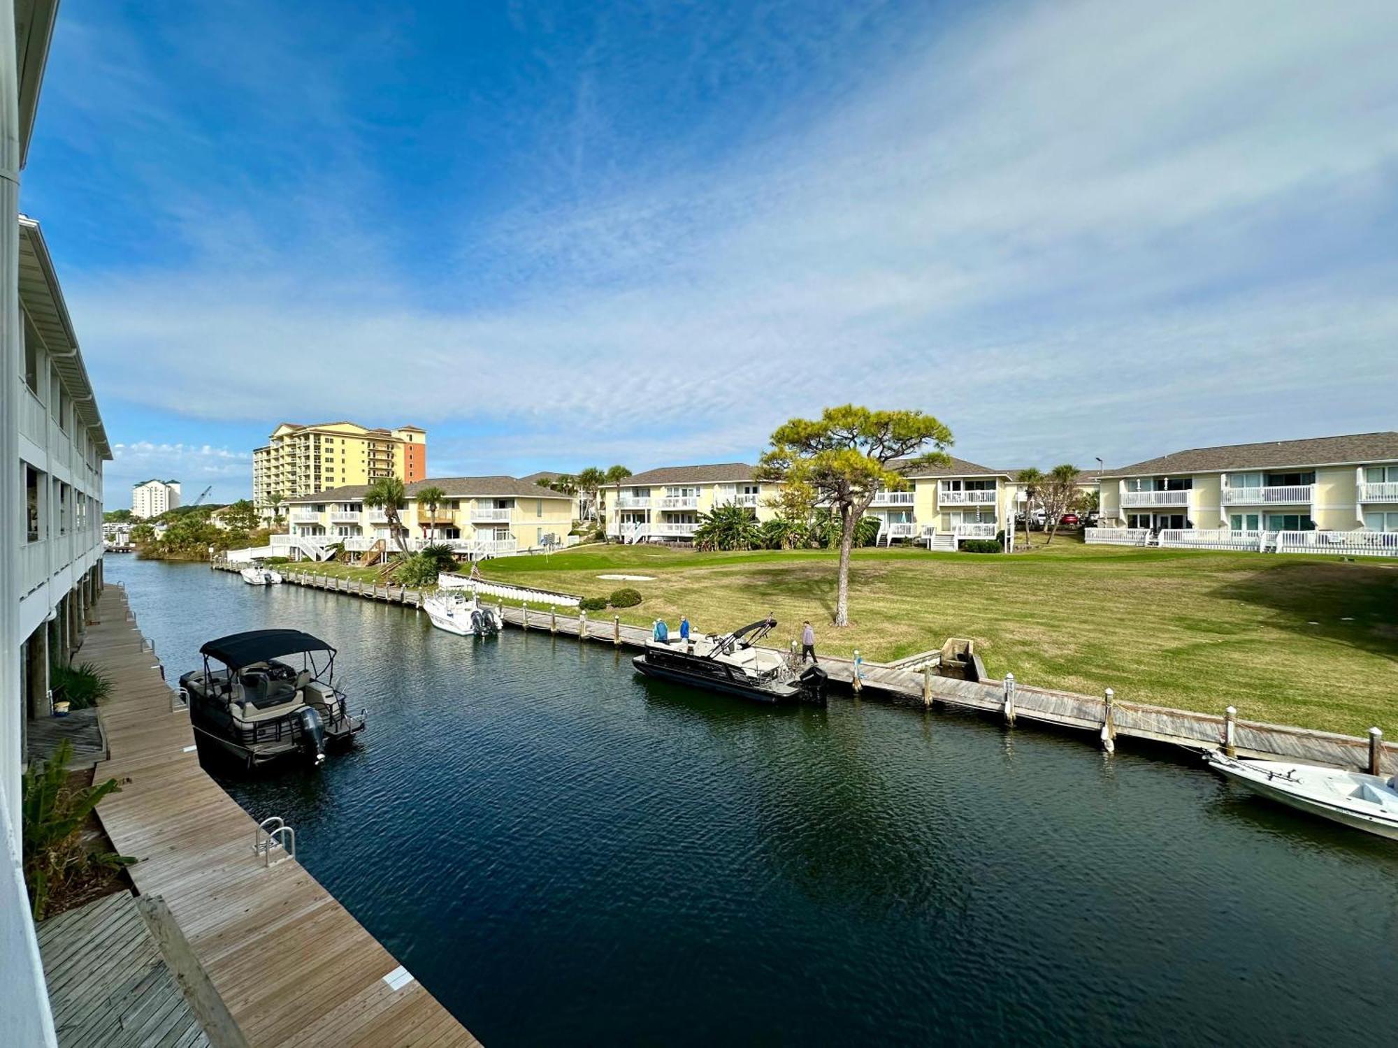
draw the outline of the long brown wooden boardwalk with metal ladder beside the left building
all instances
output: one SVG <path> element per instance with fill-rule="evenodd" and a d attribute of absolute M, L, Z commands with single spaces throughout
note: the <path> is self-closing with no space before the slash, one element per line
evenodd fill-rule
<path fill-rule="evenodd" d="M 96 615 L 82 657 L 116 686 L 101 707 L 110 759 L 95 776 L 122 783 L 98 817 L 116 850 L 140 859 L 137 891 L 164 900 L 246 1041 L 478 1044 L 301 864 L 264 866 L 256 823 L 200 767 L 189 714 L 126 594 L 109 584 Z"/>

